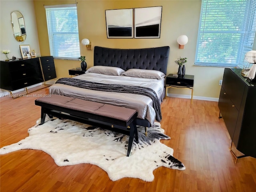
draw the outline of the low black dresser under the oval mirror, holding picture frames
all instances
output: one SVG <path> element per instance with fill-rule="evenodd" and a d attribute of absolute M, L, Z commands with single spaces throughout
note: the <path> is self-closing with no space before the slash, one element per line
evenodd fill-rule
<path fill-rule="evenodd" d="M 0 62 L 0 88 L 14 91 L 56 78 L 52 56 Z"/>

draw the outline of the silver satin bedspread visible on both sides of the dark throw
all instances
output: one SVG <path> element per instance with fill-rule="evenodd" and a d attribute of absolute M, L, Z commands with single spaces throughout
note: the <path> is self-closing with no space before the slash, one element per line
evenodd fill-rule
<path fill-rule="evenodd" d="M 148 87 L 156 92 L 159 100 L 161 100 L 161 95 L 164 92 L 164 78 L 158 80 L 148 78 L 136 78 L 123 75 L 110 76 L 97 73 L 86 73 L 76 76 L 74 78 L 105 84 Z M 156 113 L 154 111 L 154 108 L 152 107 L 152 100 L 147 96 L 138 94 L 88 90 L 58 83 L 50 86 L 49 91 L 50 94 L 59 94 L 64 96 L 81 98 L 84 100 L 132 108 L 138 112 L 138 118 L 147 119 L 151 125 L 155 121 Z"/>

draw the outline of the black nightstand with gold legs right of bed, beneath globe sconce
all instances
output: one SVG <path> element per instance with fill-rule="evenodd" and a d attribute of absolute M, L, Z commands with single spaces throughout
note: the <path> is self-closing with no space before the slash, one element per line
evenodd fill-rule
<path fill-rule="evenodd" d="M 193 99 L 193 86 L 194 86 L 194 75 L 184 75 L 183 77 L 174 77 L 173 74 L 166 76 L 166 92 L 167 96 L 168 88 L 185 88 L 191 89 L 191 103 Z"/>

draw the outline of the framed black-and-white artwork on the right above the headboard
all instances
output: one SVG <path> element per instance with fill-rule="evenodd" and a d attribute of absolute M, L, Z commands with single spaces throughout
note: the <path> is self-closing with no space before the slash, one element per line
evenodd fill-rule
<path fill-rule="evenodd" d="M 134 8 L 134 38 L 160 38 L 162 6 Z"/>

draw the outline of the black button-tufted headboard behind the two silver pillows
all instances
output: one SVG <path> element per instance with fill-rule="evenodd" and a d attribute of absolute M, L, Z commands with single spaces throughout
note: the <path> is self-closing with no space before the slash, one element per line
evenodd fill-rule
<path fill-rule="evenodd" d="M 169 46 L 144 49 L 113 49 L 94 47 L 94 66 L 113 66 L 123 70 L 132 68 L 158 70 L 166 74 Z"/>

